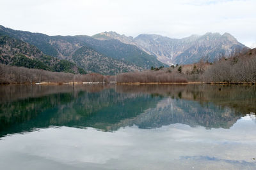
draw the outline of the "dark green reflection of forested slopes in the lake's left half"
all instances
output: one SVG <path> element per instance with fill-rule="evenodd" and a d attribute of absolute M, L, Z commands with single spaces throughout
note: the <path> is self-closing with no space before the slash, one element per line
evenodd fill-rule
<path fill-rule="evenodd" d="M 105 129 L 122 119 L 136 117 L 159 101 L 148 95 L 116 93 L 114 89 L 97 92 L 97 86 L 87 87 L 76 92 L 67 87 L 58 94 L 1 103 L 0 136 L 49 125 Z"/>

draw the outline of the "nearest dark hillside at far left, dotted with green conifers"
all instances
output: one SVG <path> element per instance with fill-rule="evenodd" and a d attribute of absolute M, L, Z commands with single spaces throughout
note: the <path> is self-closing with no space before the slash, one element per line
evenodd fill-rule
<path fill-rule="evenodd" d="M 85 73 L 72 62 L 45 55 L 36 46 L 9 36 L 0 36 L 0 62 L 49 71 Z"/>

